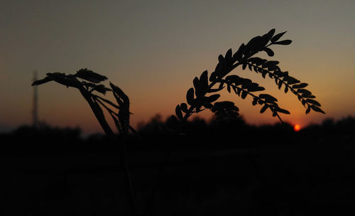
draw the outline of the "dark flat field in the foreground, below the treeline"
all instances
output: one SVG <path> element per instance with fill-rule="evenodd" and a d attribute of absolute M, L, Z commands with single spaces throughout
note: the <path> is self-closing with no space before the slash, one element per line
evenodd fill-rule
<path fill-rule="evenodd" d="M 151 212 L 354 213 L 354 155 L 353 147 L 175 152 L 158 182 Z M 140 210 L 148 203 L 163 153 L 146 159 L 131 166 Z M 94 153 L 2 157 L 1 215 L 125 215 L 126 190 L 117 161 L 114 154 Z"/>

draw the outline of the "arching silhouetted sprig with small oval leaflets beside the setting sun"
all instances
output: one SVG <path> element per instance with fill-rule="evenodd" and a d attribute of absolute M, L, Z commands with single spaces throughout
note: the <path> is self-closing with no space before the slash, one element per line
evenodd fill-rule
<path fill-rule="evenodd" d="M 278 106 L 278 99 L 268 94 L 257 95 L 256 92 L 261 92 L 265 88 L 252 80 L 238 75 L 229 75 L 232 70 L 240 65 L 243 70 L 249 68 L 249 70 L 262 75 L 263 78 L 268 76 L 275 80 L 279 90 L 284 87 L 285 93 L 292 92 L 306 108 L 306 114 L 311 109 L 315 112 L 324 113 L 320 109 L 321 104 L 314 99 L 315 96 L 305 89 L 308 85 L 307 83 L 300 82 L 295 77 L 288 75 L 288 71 L 282 71 L 278 67 L 278 61 L 254 56 L 259 52 L 266 52 L 268 56 L 273 56 L 274 52 L 270 48 L 271 45 L 289 45 L 292 42 L 290 40 L 279 41 L 286 31 L 275 36 L 274 33 L 275 29 L 271 29 L 263 36 L 252 38 L 246 45 L 244 43 L 241 44 L 236 53 L 233 54 L 231 49 L 229 49 L 224 56 L 219 55 L 219 63 L 217 63 L 216 69 L 211 75 L 208 76 L 207 70 L 205 70 L 200 75 L 200 78 L 195 77 L 193 80 L 194 87 L 187 90 L 187 103 L 178 104 L 175 108 L 176 116 L 186 121 L 193 113 L 201 112 L 204 109 L 211 109 L 217 115 L 217 118 L 234 118 L 238 116 L 239 109 L 234 105 L 234 102 L 216 102 L 220 95 L 214 93 L 226 87 L 228 92 L 233 90 L 242 99 L 248 96 L 252 97 L 253 106 L 256 104 L 262 106 L 261 113 L 265 112 L 266 109 L 270 109 L 273 117 L 278 117 L 282 122 L 279 113 L 290 114 L 290 112 Z M 219 86 L 216 88 L 214 87 L 215 85 Z M 215 103 L 212 104 L 213 102 Z"/>

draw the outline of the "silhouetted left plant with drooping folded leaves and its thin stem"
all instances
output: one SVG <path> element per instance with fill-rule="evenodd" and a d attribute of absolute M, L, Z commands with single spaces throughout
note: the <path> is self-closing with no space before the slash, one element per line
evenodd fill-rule
<path fill-rule="evenodd" d="M 111 88 L 99 84 L 104 80 L 107 80 L 107 77 L 104 75 L 99 75 L 98 73 L 93 72 L 92 70 L 87 70 L 85 68 L 78 70 L 75 75 L 65 75 L 65 73 L 60 72 L 48 72 L 45 78 L 42 80 L 36 80 L 32 85 L 42 85 L 46 82 L 55 81 L 61 85 L 65 85 L 66 87 L 75 87 L 80 91 L 84 99 L 91 107 L 92 112 L 94 112 L 94 115 L 97 118 L 97 121 L 99 121 L 99 124 L 102 126 L 102 129 L 104 129 L 105 134 L 107 134 L 107 136 L 109 136 L 112 141 L 119 141 L 120 143 L 121 149 L 119 153 L 121 156 L 121 162 L 124 165 L 126 181 L 129 185 L 129 198 L 131 200 L 133 211 L 136 212 L 136 201 L 134 198 L 133 185 L 131 183 L 131 177 L 127 164 L 126 152 L 126 140 L 129 134 L 129 130 L 131 129 L 131 131 L 135 132 L 135 130 L 129 124 L 129 97 L 124 94 L 124 91 L 122 91 L 119 87 L 112 84 L 111 82 L 109 83 Z M 112 92 L 117 104 L 111 102 L 109 99 L 95 95 L 94 92 L 99 92 L 103 95 L 106 95 L 107 92 Z M 117 131 L 119 132 L 119 136 L 115 136 L 111 127 L 107 123 L 104 112 L 102 111 L 102 107 L 107 110 L 113 119 Z M 116 109 L 117 111 L 114 112 L 113 109 Z"/>

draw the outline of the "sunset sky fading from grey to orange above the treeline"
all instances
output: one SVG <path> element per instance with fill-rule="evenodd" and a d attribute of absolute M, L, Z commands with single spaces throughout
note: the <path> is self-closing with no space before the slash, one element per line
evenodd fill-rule
<path fill-rule="evenodd" d="M 133 126 L 157 113 L 168 117 L 219 54 L 271 28 L 288 31 L 283 38 L 293 43 L 275 47 L 269 59 L 309 83 L 327 114 L 305 115 L 273 80 L 234 73 L 266 87 L 292 124 L 355 116 L 354 10 L 355 1 L 0 1 L 0 131 L 31 124 L 33 70 L 41 78 L 89 68 L 129 95 Z M 223 94 L 250 124 L 278 121 L 248 97 Z M 40 120 L 102 131 L 77 90 L 53 82 L 38 87 L 38 99 Z"/>

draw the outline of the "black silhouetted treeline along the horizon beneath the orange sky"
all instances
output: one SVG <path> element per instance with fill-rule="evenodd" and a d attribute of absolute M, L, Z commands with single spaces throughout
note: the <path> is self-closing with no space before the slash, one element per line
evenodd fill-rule
<path fill-rule="evenodd" d="M 204 121 L 193 119 L 179 124 L 175 119 L 163 121 L 159 115 L 138 127 L 129 137 L 129 148 L 136 151 L 178 149 L 193 151 L 218 148 L 258 146 L 297 146 L 355 144 L 355 119 L 325 119 L 301 131 L 290 124 L 251 126 L 244 119 Z M 34 128 L 20 126 L 11 133 L 0 134 L 1 154 L 12 153 L 80 153 L 112 152 L 112 144 L 104 134 L 83 139 L 79 128 L 58 128 L 48 125 Z"/>

